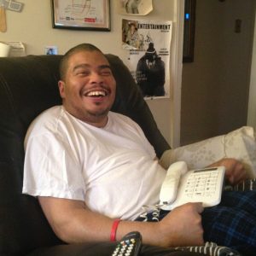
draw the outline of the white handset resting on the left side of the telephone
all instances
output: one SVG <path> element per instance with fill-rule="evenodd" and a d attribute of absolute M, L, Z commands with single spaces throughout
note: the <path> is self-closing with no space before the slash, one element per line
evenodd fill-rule
<path fill-rule="evenodd" d="M 176 199 L 180 177 L 187 171 L 188 166 L 183 161 L 175 162 L 169 166 L 160 189 L 160 205 L 170 205 Z"/>

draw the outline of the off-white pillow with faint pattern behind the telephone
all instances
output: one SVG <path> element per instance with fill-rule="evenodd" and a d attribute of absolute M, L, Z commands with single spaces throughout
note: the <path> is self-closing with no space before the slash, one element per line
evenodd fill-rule
<path fill-rule="evenodd" d="M 256 177 L 256 142 L 253 127 L 243 126 L 222 136 L 166 150 L 160 158 L 160 164 L 168 168 L 173 162 L 183 160 L 191 170 L 209 166 L 223 158 L 240 160 L 249 176 Z"/>

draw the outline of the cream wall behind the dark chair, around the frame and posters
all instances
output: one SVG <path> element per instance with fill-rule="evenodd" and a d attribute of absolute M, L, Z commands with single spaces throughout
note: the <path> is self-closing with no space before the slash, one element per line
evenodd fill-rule
<path fill-rule="evenodd" d="M 125 51 L 121 49 L 121 19 L 131 16 L 119 15 L 118 0 L 111 0 L 111 32 L 90 32 L 53 29 L 50 0 L 20 0 L 24 3 L 21 13 L 6 11 L 7 32 L 0 33 L 0 41 L 21 41 L 26 45 L 27 55 L 43 55 L 44 46 L 56 45 L 58 53 L 64 54 L 76 44 L 88 42 L 96 44 L 105 53 L 119 55 L 125 61 Z M 154 11 L 142 19 L 173 20 L 171 90 L 170 99 L 148 102 L 160 131 L 172 146 L 179 143 L 180 77 L 183 39 L 183 0 L 154 0 Z M 177 29 L 179 27 L 179 29 Z M 173 108 L 173 106 L 176 108 Z M 177 113 L 174 115 L 173 113 Z M 174 120 L 175 119 L 175 120 Z"/>

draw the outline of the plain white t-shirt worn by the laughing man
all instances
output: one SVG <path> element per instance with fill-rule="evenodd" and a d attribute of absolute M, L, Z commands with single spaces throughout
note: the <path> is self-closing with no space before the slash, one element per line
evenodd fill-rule
<path fill-rule="evenodd" d="M 134 219 L 159 201 L 166 176 L 154 148 L 130 118 L 108 113 L 103 128 L 62 106 L 32 122 L 25 140 L 23 193 L 85 201 L 110 218 Z"/>

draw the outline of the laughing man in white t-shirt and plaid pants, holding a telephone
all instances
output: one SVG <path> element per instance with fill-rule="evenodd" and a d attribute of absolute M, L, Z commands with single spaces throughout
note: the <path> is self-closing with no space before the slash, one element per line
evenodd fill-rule
<path fill-rule="evenodd" d="M 240 224 L 231 223 L 230 229 L 219 230 L 219 239 L 214 232 L 223 227 L 223 223 L 217 224 L 231 207 L 205 209 L 205 214 L 201 203 L 189 203 L 166 212 L 160 222 L 135 221 L 143 205 L 158 203 L 166 170 L 158 164 L 140 127 L 109 111 L 116 83 L 99 49 L 91 44 L 70 49 L 61 61 L 60 71 L 63 106 L 40 114 L 27 131 L 23 193 L 38 196 L 49 224 L 61 240 L 109 241 L 111 234 L 114 241 L 138 230 L 145 243 L 162 247 L 202 245 L 204 239 L 235 246 L 236 235 L 231 236 L 230 230 L 241 229 L 244 233 L 245 227 L 250 239 L 238 237 L 239 245 L 256 247 L 254 193 L 253 203 L 245 210 L 254 215 L 247 213 Z M 246 177 L 236 160 L 221 160 L 214 165 L 226 166 L 231 183 Z M 237 206 L 230 212 L 227 218 L 233 218 L 241 208 Z M 209 219 L 211 224 L 207 224 Z M 247 225 L 252 226 L 250 230 Z"/>

